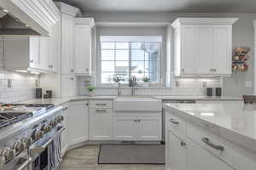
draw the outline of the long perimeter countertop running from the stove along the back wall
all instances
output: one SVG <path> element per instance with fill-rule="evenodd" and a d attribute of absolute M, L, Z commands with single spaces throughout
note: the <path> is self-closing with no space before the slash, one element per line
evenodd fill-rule
<path fill-rule="evenodd" d="M 125 95 L 119 96 L 127 97 Z M 131 97 L 131 96 L 128 96 Z M 207 97 L 207 96 L 133 96 L 133 97 L 152 97 L 156 99 L 163 99 L 163 100 L 172 100 L 172 99 L 195 99 L 195 100 L 229 100 L 229 101 L 239 101 L 242 100 L 241 98 L 236 97 Z M 62 105 L 69 101 L 79 101 L 79 100 L 86 100 L 86 99 L 116 99 L 117 96 L 73 96 L 73 97 L 66 97 L 66 98 L 52 98 L 52 99 L 29 99 L 20 101 L 18 103 L 26 103 L 26 104 L 54 104 L 54 105 Z"/>

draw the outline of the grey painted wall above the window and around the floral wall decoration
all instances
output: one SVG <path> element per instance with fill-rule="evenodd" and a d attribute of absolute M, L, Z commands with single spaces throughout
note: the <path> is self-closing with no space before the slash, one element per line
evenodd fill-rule
<path fill-rule="evenodd" d="M 253 87 L 246 87 L 246 82 L 253 82 L 253 20 L 256 13 L 84 13 L 84 16 L 94 17 L 96 22 L 152 22 L 172 23 L 177 17 L 238 17 L 233 26 L 233 48 L 249 47 L 250 69 L 246 73 L 233 73 L 231 77 L 224 77 L 223 88 L 225 96 L 241 96 L 253 94 Z M 171 63 L 173 59 L 171 59 Z M 173 65 L 172 65 L 173 68 Z"/>

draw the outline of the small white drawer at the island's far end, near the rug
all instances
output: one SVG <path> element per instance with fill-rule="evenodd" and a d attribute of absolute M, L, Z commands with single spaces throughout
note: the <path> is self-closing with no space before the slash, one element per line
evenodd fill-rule
<path fill-rule="evenodd" d="M 180 133 L 186 134 L 186 121 L 170 112 L 166 112 L 166 129 L 179 135 Z"/>

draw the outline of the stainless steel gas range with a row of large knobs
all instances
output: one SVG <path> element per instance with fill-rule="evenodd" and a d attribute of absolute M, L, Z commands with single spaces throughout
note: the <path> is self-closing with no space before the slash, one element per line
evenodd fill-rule
<path fill-rule="evenodd" d="M 65 129 L 62 107 L 1 105 L 0 170 L 32 168 L 32 161 Z"/>

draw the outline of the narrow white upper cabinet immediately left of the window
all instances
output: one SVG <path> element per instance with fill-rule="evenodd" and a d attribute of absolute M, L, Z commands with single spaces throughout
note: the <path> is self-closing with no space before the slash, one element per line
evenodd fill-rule
<path fill-rule="evenodd" d="M 91 76 L 93 18 L 75 19 L 74 72 L 76 75 Z"/>

